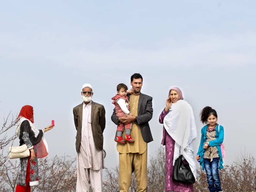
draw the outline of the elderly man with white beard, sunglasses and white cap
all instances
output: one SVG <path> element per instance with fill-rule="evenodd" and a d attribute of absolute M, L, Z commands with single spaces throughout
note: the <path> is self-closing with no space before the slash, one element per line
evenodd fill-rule
<path fill-rule="evenodd" d="M 82 86 L 83 102 L 73 109 L 76 133 L 76 192 L 102 192 L 104 106 L 91 101 L 91 84 Z"/>

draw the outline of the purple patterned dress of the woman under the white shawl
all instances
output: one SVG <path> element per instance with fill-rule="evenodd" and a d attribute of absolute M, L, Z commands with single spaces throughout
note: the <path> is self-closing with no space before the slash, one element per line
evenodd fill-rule
<path fill-rule="evenodd" d="M 159 116 L 159 123 L 163 124 L 163 118 L 169 113 L 169 111 L 163 110 Z M 175 141 L 167 133 L 165 127 L 163 127 L 163 139 L 161 142 L 165 145 L 165 191 L 182 191 L 193 192 L 193 184 L 185 184 L 181 182 L 173 181 L 173 154 Z M 184 160 L 186 161 L 186 160 Z"/>

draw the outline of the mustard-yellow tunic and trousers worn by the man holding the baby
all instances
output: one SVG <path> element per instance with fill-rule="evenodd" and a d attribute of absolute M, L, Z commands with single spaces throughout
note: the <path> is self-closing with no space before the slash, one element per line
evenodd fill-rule
<path fill-rule="evenodd" d="M 132 94 L 129 98 L 130 112 L 138 116 L 138 101 L 140 94 Z M 123 137 L 125 131 L 123 132 Z M 128 192 L 131 184 L 132 167 L 134 167 L 137 180 L 137 192 L 146 192 L 147 188 L 147 143 L 144 142 L 140 126 L 132 124 L 131 136 L 134 143 L 117 143 L 119 152 L 119 190 Z"/>

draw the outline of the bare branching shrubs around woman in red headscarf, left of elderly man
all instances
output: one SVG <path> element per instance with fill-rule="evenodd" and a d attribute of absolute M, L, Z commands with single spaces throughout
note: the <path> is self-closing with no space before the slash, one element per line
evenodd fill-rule
<path fill-rule="evenodd" d="M 17 179 L 20 173 L 19 159 L 8 160 L 9 150 L 13 141 L 17 138 L 13 129 L 17 124 L 17 116 L 11 112 L 4 118 L 0 128 L 0 191 L 15 191 Z M 9 134 L 8 134 L 9 133 Z M 11 135 L 11 136 L 8 136 Z M 68 156 L 38 159 L 39 185 L 31 187 L 31 192 L 75 192 L 76 185 L 76 158 Z"/>

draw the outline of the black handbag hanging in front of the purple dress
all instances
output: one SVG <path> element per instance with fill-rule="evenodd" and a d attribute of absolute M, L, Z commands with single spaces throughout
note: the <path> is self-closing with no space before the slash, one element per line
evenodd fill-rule
<path fill-rule="evenodd" d="M 173 181 L 192 184 L 195 183 L 195 177 L 188 164 L 182 161 L 183 155 L 176 159 L 173 167 Z"/>

